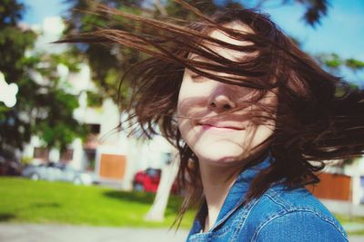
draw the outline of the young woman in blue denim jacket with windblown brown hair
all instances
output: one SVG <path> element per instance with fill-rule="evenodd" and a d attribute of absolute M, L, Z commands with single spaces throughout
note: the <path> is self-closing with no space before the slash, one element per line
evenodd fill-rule
<path fill-rule="evenodd" d="M 128 111 L 145 134 L 159 130 L 179 150 L 188 194 L 178 219 L 200 204 L 187 241 L 348 241 L 304 186 L 319 182 L 322 160 L 363 153 L 363 92 L 323 71 L 266 15 L 207 17 L 182 4 L 200 21 L 182 26 L 99 5 L 147 28 L 64 42 L 151 56 L 126 73 L 136 90 Z"/>

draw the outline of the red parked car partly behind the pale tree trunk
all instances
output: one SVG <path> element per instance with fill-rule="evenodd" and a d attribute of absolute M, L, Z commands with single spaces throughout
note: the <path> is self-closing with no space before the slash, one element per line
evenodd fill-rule
<path fill-rule="evenodd" d="M 136 172 L 133 180 L 133 189 L 139 191 L 156 192 L 161 178 L 161 169 L 148 168 Z M 178 193 L 177 182 L 172 185 L 171 192 Z"/>

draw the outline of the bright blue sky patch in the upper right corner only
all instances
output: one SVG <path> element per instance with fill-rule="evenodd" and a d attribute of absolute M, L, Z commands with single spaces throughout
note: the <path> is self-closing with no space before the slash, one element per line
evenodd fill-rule
<path fill-rule="evenodd" d="M 304 9 L 299 5 L 272 7 L 270 4 L 266 10 L 286 33 L 297 37 L 308 52 L 336 52 L 343 57 L 364 60 L 364 1 L 329 2 L 329 14 L 315 28 L 301 19 Z"/>

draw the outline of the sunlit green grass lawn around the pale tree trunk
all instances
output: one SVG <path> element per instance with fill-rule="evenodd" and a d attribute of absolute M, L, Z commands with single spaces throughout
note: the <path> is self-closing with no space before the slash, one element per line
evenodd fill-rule
<path fill-rule="evenodd" d="M 70 183 L 0 177 L 0 222 L 169 227 L 181 198 L 171 196 L 164 222 L 143 220 L 155 194 L 124 192 Z M 191 227 L 194 211 L 181 227 Z"/>

